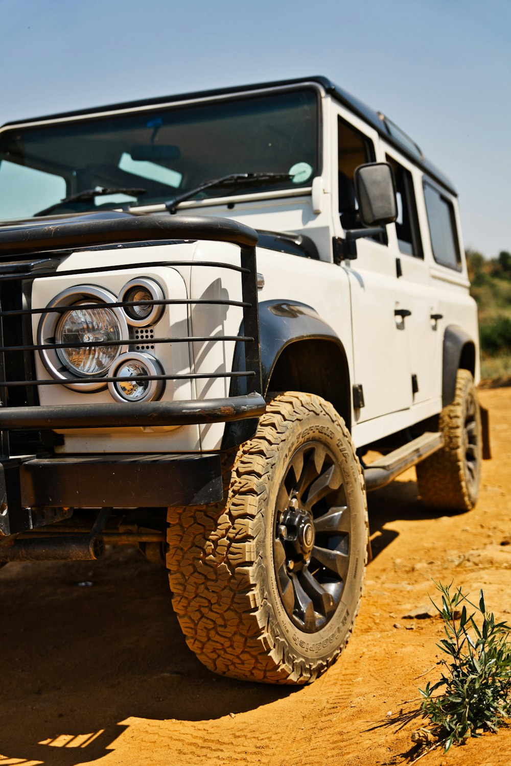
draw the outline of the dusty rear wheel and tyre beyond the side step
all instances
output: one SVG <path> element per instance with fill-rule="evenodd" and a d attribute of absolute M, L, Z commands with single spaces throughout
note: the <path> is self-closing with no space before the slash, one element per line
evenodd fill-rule
<path fill-rule="evenodd" d="M 431 508 L 469 511 L 479 495 L 482 431 L 468 370 L 458 370 L 454 401 L 441 411 L 439 427 L 444 447 L 416 466 L 419 493 Z"/>

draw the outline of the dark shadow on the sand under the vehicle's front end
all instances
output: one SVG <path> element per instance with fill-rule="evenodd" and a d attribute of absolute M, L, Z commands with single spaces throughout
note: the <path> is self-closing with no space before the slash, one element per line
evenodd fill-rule
<path fill-rule="evenodd" d="M 0 764 L 89 763 L 132 717 L 179 725 L 300 693 L 210 673 L 186 646 L 165 570 L 133 549 L 105 558 L 0 571 Z"/>

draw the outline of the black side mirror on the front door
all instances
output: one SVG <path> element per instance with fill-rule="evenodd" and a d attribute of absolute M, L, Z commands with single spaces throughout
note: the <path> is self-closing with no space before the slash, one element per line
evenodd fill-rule
<path fill-rule="evenodd" d="M 384 226 L 398 218 L 394 172 L 388 162 L 359 165 L 354 175 L 360 220 L 364 226 Z"/>

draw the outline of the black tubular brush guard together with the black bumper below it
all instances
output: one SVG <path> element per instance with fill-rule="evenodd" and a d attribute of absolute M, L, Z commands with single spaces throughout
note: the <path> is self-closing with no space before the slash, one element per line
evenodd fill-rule
<path fill-rule="evenodd" d="M 242 300 L 158 300 L 155 304 L 186 303 L 223 304 L 243 309 L 243 334 L 237 336 L 196 336 L 152 338 L 151 344 L 195 341 L 236 341 L 244 345 L 245 365 L 242 370 L 185 375 L 141 375 L 137 380 L 175 380 L 178 378 L 235 378 L 246 381 L 246 394 L 221 399 L 194 401 L 112 401 L 109 404 L 39 405 L 39 386 L 62 385 L 57 380 L 34 377 L 34 353 L 41 348 L 77 348 L 80 345 L 136 345 L 136 339 L 90 342 L 72 345 L 37 344 L 31 338 L 31 316 L 43 315 L 48 309 L 31 306 L 30 286 L 34 279 L 56 275 L 62 260 L 80 249 L 110 245 L 165 243 L 213 240 L 237 244 L 240 265 L 208 261 L 159 260 L 152 263 L 123 264 L 123 270 L 141 273 L 148 267 L 179 265 L 217 270 L 234 270 L 241 278 Z M 223 218 L 170 216 L 153 214 L 133 216 L 110 214 L 94 218 L 81 216 L 69 222 L 0 227 L 0 536 L 31 529 L 34 513 L 31 507 L 128 507 L 188 505 L 221 499 L 221 463 L 218 453 L 188 455 L 108 455 L 87 457 L 48 457 L 48 454 L 16 457 L 11 454 L 10 440 L 16 432 L 25 434 L 52 429 L 90 427 L 179 426 L 207 424 L 257 418 L 264 413 L 261 395 L 259 320 L 257 313 L 256 232 Z M 15 260 L 9 260 L 15 259 Z M 4 261 L 2 267 L 2 261 Z M 59 270 L 58 276 L 80 277 L 82 273 L 115 271 L 116 267 L 82 270 Z M 7 298 L 6 291 L 10 293 Z M 13 304 L 12 295 L 18 298 Z M 5 300 L 2 297 L 5 296 Z M 25 300 L 21 303 L 21 296 Z M 146 302 L 152 305 L 152 302 Z M 5 308 L 5 305 L 8 308 Z M 97 304 L 95 304 L 96 306 Z M 133 303 L 106 303 L 105 307 L 129 306 Z M 14 308 L 13 308 L 14 306 Z M 92 306 L 92 305 L 91 305 Z M 64 312 L 69 307 L 50 309 Z M 23 328 L 20 332 L 19 328 Z M 6 332 L 7 328 L 7 332 Z M 15 332 L 13 332 L 15 330 Z M 13 342 L 13 338 L 15 342 Z M 17 361 L 13 361 L 17 360 Z M 105 383 L 118 378 L 101 378 Z M 80 382 L 97 378 L 80 378 Z M 9 392 L 9 394 L 7 393 Z M 15 452 L 20 452 L 19 445 Z M 25 450 L 30 451 L 30 450 Z M 2 501 L 3 495 L 3 501 Z M 7 507 L 9 506 L 9 512 Z"/>

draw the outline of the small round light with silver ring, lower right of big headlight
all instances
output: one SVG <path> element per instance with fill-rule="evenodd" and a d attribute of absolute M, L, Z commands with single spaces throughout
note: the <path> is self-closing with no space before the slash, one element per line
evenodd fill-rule
<path fill-rule="evenodd" d="M 158 399 L 163 391 L 164 381 L 149 381 L 143 375 L 162 375 L 159 362 L 150 354 L 128 352 L 111 365 L 109 378 L 118 378 L 110 382 L 110 394 L 117 401 L 152 401 Z"/>

